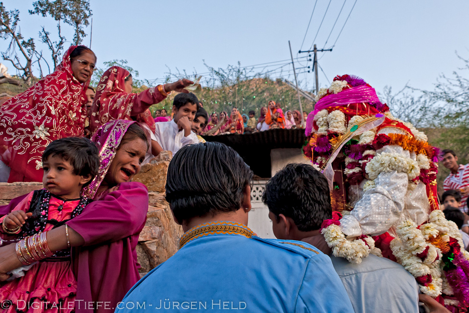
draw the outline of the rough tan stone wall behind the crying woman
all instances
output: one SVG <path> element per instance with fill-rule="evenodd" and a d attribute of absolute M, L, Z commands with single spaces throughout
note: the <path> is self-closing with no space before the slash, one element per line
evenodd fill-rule
<path fill-rule="evenodd" d="M 137 245 L 138 262 L 143 276 L 152 268 L 165 262 L 179 248 L 182 227 L 174 222 L 169 203 L 165 200 L 166 173 L 171 152 L 164 151 L 158 158 L 142 166 L 133 181 L 140 181 L 149 189 L 147 222 L 139 236 Z M 43 188 L 40 182 L 0 183 L 0 205 L 10 200 Z"/>

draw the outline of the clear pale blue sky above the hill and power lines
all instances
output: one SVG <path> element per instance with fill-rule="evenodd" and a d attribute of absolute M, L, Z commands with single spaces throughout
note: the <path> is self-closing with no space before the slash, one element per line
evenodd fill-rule
<path fill-rule="evenodd" d="M 40 25 L 54 32 L 50 18 L 28 15 L 32 2 L 4 0 L 3 4 L 20 10 L 24 37 L 37 38 Z M 296 57 L 315 4 L 315 0 L 90 2 L 91 48 L 98 66 L 103 61 L 126 59 L 140 72 L 139 78 L 146 79 L 164 77 L 168 67 L 173 72 L 176 67 L 190 73 L 194 69 L 206 72 L 203 60 L 223 68 L 238 61 L 249 66 L 286 60 L 290 58 L 288 40 Z M 335 42 L 354 2 L 346 0 L 326 48 Z M 328 4 L 328 0 L 317 1 L 303 49 L 312 45 Z M 319 48 L 324 46 L 342 4 L 343 0 L 330 2 L 316 39 Z M 377 91 L 386 85 L 401 89 L 407 82 L 432 89 L 440 73 L 451 74 L 462 66 L 455 51 L 469 58 L 468 12 L 467 0 L 358 0 L 333 51 L 320 53 L 320 67 L 329 81 L 337 74 L 355 74 Z M 86 32 L 89 34 L 90 27 Z M 66 35 L 69 40 L 73 37 L 71 32 Z M 6 44 L 0 41 L 0 49 Z M 84 44 L 89 45 L 89 35 Z M 283 68 L 288 70 L 289 66 Z M 320 87 L 327 87 L 325 75 L 322 71 L 319 74 Z M 278 72 L 272 77 L 277 76 Z M 300 74 L 299 79 L 303 87 L 314 87 L 314 73 Z"/>

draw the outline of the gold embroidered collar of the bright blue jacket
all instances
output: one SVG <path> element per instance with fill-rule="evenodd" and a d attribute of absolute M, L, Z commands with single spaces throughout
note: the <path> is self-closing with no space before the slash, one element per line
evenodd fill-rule
<path fill-rule="evenodd" d="M 192 227 L 182 235 L 179 248 L 188 242 L 209 235 L 242 235 L 247 238 L 257 236 L 249 227 L 234 222 L 212 222 Z"/>

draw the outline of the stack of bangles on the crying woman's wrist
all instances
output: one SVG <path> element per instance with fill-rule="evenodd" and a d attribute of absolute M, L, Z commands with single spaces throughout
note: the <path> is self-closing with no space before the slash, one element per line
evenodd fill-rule
<path fill-rule="evenodd" d="M 21 264 L 30 265 L 52 256 L 45 237 L 46 232 L 41 232 L 24 238 L 16 244 L 16 254 Z"/>

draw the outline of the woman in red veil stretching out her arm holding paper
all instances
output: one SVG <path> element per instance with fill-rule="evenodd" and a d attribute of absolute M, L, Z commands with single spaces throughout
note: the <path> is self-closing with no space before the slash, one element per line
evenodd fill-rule
<path fill-rule="evenodd" d="M 188 93 L 184 88 L 193 84 L 188 79 L 180 79 L 171 84 L 132 93 L 132 83 L 132 75 L 122 67 L 110 67 L 104 72 L 96 88 L 96 97 L 91 108 L 92 133 L 108 121 L 136 119 L 138 114 L 145 112 L 152 104 L 161 102 L 171 91 Z"/>

